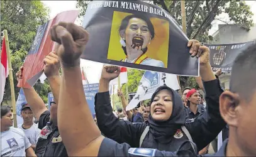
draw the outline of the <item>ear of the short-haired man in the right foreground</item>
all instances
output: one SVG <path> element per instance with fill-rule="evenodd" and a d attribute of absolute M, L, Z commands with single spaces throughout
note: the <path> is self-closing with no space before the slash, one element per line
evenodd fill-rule
<path fill-rule="evenodd" d="M 224 121 L 236 127 L 239 114 L 239 95 L 226 90 L 220 95 L 220 114 Z"/>

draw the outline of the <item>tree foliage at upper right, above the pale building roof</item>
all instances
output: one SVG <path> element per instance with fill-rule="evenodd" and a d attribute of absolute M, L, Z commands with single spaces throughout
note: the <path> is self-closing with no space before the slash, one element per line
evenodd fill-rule
<path fill-rule="evenodd" d="M 221 13 L 227 13 L 231 21 L 247 30 L 253 26 L 250 6 L 245 1 L 221 1 L 219 5 L 214 5 L 217 1 L 186 1 L 186 19 L 187 19 L 187 37 L 192 38 L 199 26 L 207 18 L 208 14 L 213 10 L 209 19 L 203 24 L 203 29 L 199 32 L 196 39 L 201 42 L 209 43 L 208 32 L 211 29 L 211 22 Z M 154 4 L 164 8 L 172 17 L 181 25 L 181 1 L 154 0 Z"/>

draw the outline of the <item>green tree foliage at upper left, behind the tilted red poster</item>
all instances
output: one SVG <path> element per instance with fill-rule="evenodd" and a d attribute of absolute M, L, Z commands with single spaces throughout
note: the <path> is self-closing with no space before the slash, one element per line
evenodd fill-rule
<path fill-rule="evenodd" d="M 49 9 L 45 8 L 40 1 L 5 0 L 1 2 L 1 31 L 8 30 L 16 99 L 19 88 L 16 87 L 18 82 L 15 79 L 15 73 L 23 65 L 38 26 L 46 23 L 48 18 Z M 47 94 L 50 91 L 48 83 L 36 83 L 34 87 L 44 102 L 47 102 Z M 3 101 L 11 100 L 9 78 L 6 79 L 5 92 Z"/>

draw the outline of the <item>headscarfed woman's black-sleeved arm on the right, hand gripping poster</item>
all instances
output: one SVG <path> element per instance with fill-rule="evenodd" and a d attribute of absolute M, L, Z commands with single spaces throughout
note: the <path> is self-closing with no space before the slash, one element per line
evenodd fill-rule
<path fill-rule="evenodd" d="M 187 119 L 186 127 L 191 133 L 194 143 L 201 150 L 218 136 L 226 123 L 223 121 L 219 110 L 219 97 L 223 90 L 209 64 L 209 48 L 200 46 L 199 50 L 203 52 L 200 58 L 200 75 L 206 92 L 207 107 L 206 112 L 196 119 Z"/>

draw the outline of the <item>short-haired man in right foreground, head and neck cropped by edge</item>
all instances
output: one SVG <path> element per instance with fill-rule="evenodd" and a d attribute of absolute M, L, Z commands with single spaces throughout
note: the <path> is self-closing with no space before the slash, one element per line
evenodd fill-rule
<path fill-rule="evenodd" d="M 256 156 L 256 44 L 233 63 L 230 90 L 220 96 L 220 112 L 229 126 L 229 139 L 209 156 Z"/>

